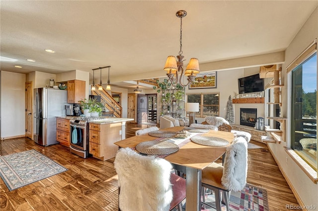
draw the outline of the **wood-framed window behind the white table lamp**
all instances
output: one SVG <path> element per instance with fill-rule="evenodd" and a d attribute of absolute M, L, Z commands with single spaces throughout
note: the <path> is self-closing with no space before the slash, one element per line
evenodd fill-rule
<path fill-rule="evenodd" d="M 196 117 L 204 118 L 206 116 L 219 116 L 219 94 L 218 93 L 201 93 L 187 95 L 188 103 L 199 103 L 199 112 L 195 113 Z"/>

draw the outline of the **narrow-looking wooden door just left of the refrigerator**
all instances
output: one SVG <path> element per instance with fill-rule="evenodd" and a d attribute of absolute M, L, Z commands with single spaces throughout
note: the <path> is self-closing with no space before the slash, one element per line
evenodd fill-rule
<path fill-rule="evenodd" d="M 32 139 L 32 81 L 25 83 L 25 136 Z"/>

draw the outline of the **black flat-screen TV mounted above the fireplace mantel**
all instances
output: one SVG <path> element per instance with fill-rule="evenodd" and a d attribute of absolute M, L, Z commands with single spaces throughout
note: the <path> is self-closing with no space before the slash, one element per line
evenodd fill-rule
<path fill-rule="evenodd" d="M 259 74 L 239 78 L 239 94 L 264 91 L 264 79 Z"/>

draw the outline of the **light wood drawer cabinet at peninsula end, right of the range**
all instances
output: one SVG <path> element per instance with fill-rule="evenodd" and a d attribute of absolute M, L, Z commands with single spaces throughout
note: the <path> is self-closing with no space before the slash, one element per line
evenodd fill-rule
<path fill-rule="evenodd" d="M 89 153 L 94 158 L 106 160 L 116 155 L 122 140 L 122 122 L 98 124 L 89 123 Z"/>

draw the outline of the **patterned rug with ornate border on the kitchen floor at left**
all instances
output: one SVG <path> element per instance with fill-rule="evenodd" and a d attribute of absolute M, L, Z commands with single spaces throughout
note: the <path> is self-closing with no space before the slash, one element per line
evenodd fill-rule
<path fill-rule="evenodd" d="M 10 191 L 67 170 L 35 150 L 0 156 L 0 176 Z"/>

